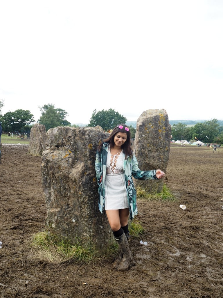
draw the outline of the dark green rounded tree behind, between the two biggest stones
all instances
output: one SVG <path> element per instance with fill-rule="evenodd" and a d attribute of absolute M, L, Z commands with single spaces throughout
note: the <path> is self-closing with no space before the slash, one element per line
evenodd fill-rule
<path fill-rule="evenodd" d="M 118 125 L 120 123 L 125 124 L 127 119 L 116 112 L 115 110 L 112 110 L 111 108 L 109 110 L 102 110 L 98 111 L 94 110 L 90 119 L 90 123 L 87 126 L 97 126 L 100 125 L 104 130 L 113 129 L 115 125 Z"/>

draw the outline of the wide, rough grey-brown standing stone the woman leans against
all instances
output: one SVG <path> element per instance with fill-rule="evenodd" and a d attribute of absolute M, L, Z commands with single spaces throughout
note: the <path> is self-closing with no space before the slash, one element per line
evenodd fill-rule
<path fill-rule="evenodd" d="M 107 136 L 100 126 L 51 128 L 41 166 L 49 235 L 78 241 L 99 254 L 114 241 L 98 209 L 95 177 L 96 148 Z"/>

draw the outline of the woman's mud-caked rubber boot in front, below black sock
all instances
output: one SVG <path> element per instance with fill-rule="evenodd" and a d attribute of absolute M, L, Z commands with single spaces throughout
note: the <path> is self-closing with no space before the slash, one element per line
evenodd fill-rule
<path fill-rule="evenodd" d="M 117 240 L 120 252 L 123 254 L 122 260 L 120 261 L 117 269 L 119 271 L 125 271 L 129 268 L 132 261 L 132 253 L 128 245 L 128 240 L 125 233 L 123 233 L 120 237 L 115 237 L 115 240 Z"/>

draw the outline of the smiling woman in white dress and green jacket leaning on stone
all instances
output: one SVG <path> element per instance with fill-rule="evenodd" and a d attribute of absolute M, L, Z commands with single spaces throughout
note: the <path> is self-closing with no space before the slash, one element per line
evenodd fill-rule
<path fill-rule="evenodd" d="M 98 146 L 95 159 L 98 181 L 98 206 L 106 216 L 120 248 L 120 254 L 112 264 L 120 271 L 128 269 L 132 253 L 128 245 L 128 217 L 134 218 L 137 212 L 136 190 L 132 176 L 136 179 L 160 179 L 165 173 L 161 170 L 141 171 L 131 149 L 128 126 L 117 125 L 109 137 Z"/>

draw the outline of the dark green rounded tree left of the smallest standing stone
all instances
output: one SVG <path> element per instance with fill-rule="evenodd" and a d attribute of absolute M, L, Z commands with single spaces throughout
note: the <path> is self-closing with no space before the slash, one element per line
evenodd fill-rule
<path fill-rule="evenodd" d="M 28 110 L 16 110 L 15 112 L 7 112 L 3 116 L 2 127 L 5 131 L 21 132 L 24 126 L 34 122 L 33 114 Z"/>

